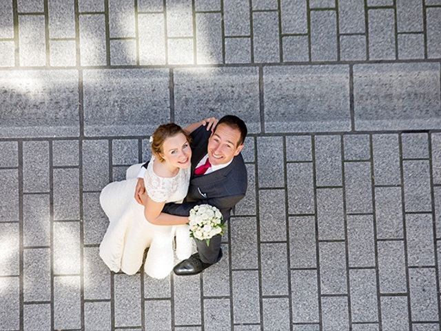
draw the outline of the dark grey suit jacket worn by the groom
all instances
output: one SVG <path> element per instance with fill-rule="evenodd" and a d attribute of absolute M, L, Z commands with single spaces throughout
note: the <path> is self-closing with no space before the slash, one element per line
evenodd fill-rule
<path fill-rule="evenodd" d="M 227 221 L 232 208 L 245 197 L 247 192 L 247 168 L 241 154 L 234 157 L 227 167 L 202 176 L 194 175 L 194 168 L 207 154 L 211 131 L 201 126 L 192 132 L 192 177 L 187 197 L 183 203 L 167 203 L 163 212 L 188 216 L 195 205 L 207 203 L 219 208 L 224 221 Z M 147 163 L 146 163 L 147 164 Z M 144 166 L 146 166 L 146 164 Z"/>

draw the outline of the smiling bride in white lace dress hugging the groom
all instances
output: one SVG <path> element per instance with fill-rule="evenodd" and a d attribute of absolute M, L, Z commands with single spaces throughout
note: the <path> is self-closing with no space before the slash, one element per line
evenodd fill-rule
<path fill-rule="evenodd" d="M 174 237 L 178 259 L 187 259 L 192 254 L 187 219 L 161 212 L 165 203 L 182 202 L 187 194 L 192 158 L 189 134 L 202 125 L 213 130 L 216 123 L 211 117 L 185 129 L 168 123 L 154 131 L 150 137 L 152 158 L 144 176 L 143 205 L 133 195 L 141 164 L 127 169 L 125 181 L 103 188 L 100 203 L 110 224 L 99 255 L 110 270 L 135 274 L 141 268 L 145 249 L 149 248 L 144 272 L 156 279 L 167 277 L 174 266 Z"/>

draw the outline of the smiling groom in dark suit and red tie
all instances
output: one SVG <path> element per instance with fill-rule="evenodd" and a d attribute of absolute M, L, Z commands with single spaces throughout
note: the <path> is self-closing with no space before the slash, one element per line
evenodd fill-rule
<path fill-rule="evenodd" d="M 195 205 L 207 203 L 216 206 L 229 219 L 232 208 L 247 192 L 247 169 L 240 151 L 247 136 L 244 121 L 234 115 L 222 117 L 214 128 L 207 131 L 201 126 L 192 132 L 192 176 L 187 197 L 183 203 L 167 203 L 163 212 L 189 216 Z M 143 165 L 147 167 L 147 163 Z M 138 179 L 135 199 L 145 190 L 143 179 Z M 222 258 L 221 236 L 209 241 L 194 239 L 198 252 L 174 267 L 178 275 L 198 274 Z"/>

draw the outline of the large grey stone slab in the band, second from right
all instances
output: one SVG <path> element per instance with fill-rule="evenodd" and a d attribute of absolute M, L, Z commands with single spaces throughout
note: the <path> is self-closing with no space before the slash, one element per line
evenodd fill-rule
<path fill-rule="evenodd" d="M 347 66 L 263 69 L 267 132 L 351 129 Z"/>

